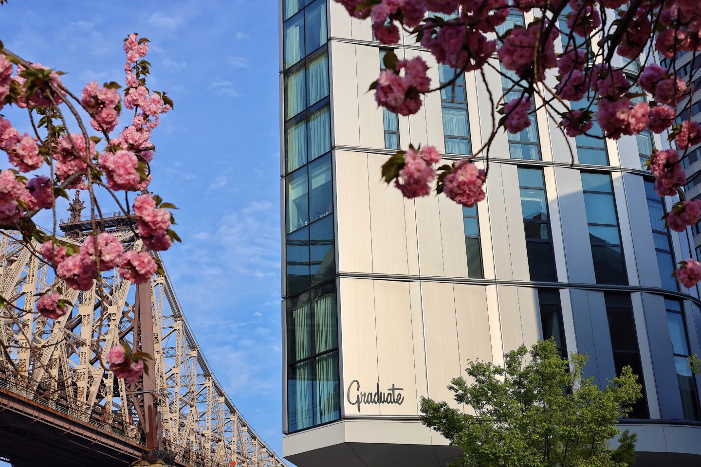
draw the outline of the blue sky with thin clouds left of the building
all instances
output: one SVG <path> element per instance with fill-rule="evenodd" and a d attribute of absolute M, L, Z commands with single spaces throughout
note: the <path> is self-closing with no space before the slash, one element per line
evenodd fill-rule
<path fill-rule="evenodd" d="M 278 0 L 11 0 L 0 41 L 66 71 L 79 94 L 88 81 L 123 84 L 126 34 L 151 40 L 149 88 L 175 101 L 152 137 L 151 190 L 180 208 L 183 244 L 165 266 L 219 381 L 280 454 L 277 10 Z M 3 113 L 28 130 L 26 113 Z"/>

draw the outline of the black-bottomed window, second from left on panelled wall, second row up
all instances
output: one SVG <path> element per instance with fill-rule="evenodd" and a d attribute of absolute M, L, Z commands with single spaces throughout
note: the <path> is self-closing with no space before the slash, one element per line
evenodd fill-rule
<path fill-rule="evenodd" d="M 531 281 L 557 281 L 543 170 L 519 167 L 521 209 Z"/>

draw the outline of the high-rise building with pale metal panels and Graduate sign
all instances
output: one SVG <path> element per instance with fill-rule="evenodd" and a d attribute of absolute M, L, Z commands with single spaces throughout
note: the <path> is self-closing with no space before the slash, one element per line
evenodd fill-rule
<path fill-rule="evenodd" d="M 381 46 L 332 0 L 280 1 L 283 455 L 442 466 L 459 449 L 421 424 L 419 398 L 458 407 L 447 385 L 468 359 L 501 363 L 554 336 L 588 354 L 599 384 L 625 365 L 639 375 L 644 399 L 620 421 L 638 433 L 638 466 L 699 463 L 701 381 L 686 357 L 701 350 L 701 301 L 670 279 L 693 244 L 660 221 L 676 197 L 641 169 L 660 137 L 571 139 L 534 108 L 531 127 L 494 140 L 486 200 L 405 200 L 381 182 L 388 157 L 409 143 L 448 163 L 472 154 L 498 120 L 490 94 L 518 86 L 494 57 L 486 83 L 458 76 L 397 116 L 368 92 L 388 50 L 423 57 L 434 86 L 454 76 L 406 39 Z"/>

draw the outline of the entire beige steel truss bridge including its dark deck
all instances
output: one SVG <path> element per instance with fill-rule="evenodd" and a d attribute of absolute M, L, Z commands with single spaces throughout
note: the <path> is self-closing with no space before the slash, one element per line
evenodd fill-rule
<path fill-rule="evenodd" d="M 60 225 L 66 242 L 81 244 L 94 225 L 82 207 L 76 193 Z M 128 217 L 111 217 L 100 227 L 140 251 Z M 27 248 L 4 234 L 0 296 L 14 307 L 0 308 L 0 456 L 16 467 L 285 466 L 217 382 L 168 274 L 137 286 L 115 270 L 74 291 L 36 241 Z M 74 304 L 56 321 L 34 312 L 36 295 L 51 287 Z M 120 341 L 154 356 L 132 384 L 104 368 Z"/>

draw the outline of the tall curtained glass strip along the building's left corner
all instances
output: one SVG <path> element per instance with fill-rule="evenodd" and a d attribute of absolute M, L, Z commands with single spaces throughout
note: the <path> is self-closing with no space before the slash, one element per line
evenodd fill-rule
<path fill-rule="evenodd" d="M 340 417 L 326 8 L 283 2 L 290 433 Z"/>

